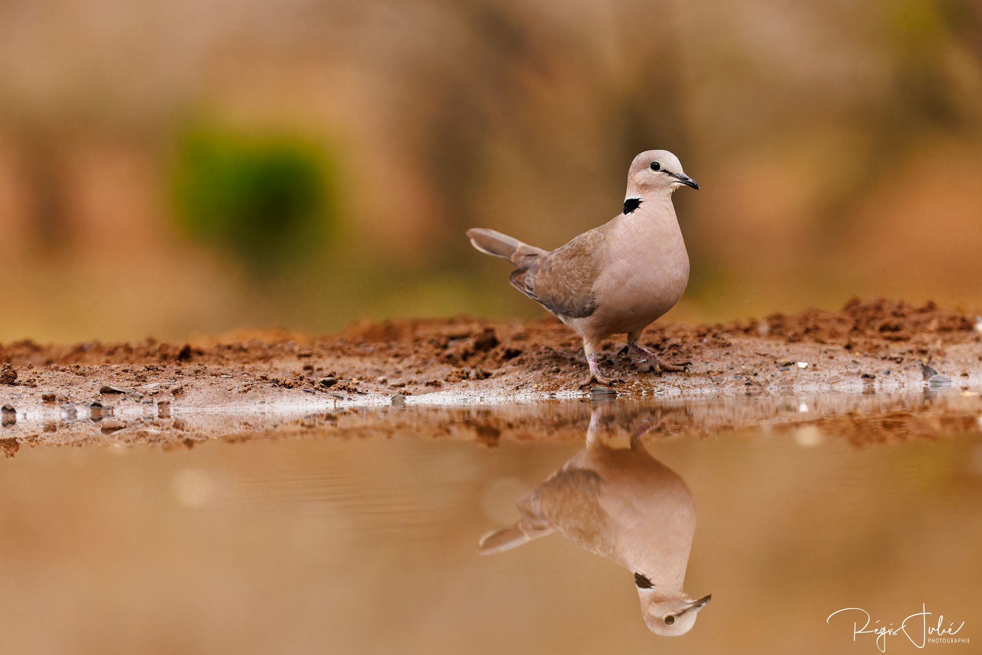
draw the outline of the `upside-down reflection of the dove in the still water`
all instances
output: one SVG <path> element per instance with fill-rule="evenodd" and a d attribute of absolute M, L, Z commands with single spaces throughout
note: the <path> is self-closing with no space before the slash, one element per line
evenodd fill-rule
<path fill-rule="evenodd" d="M 652 632 L 684 634 L 711 598 L 692 599 L 682 590 L 695 532 L 692 493 L 642 444 L 655 426 L 645 422 L 635 430 L 629 448 L 608 447 L 599 437 L 603 412 L 603 405 L 594 408 L 586 446 L 518 501 L 518 523 L 481 538 L 480 553 L 558 532 L 633 574 Z"/>

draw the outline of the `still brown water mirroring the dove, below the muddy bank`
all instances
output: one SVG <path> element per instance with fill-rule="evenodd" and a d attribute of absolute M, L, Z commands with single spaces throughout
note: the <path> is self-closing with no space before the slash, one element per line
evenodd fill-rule
<path fill-rule="evenodd" d="M 980 417 L 951 389 L 56 425 L 0 460 L 0 652 L 974 653 Z M 930 614 L 878 640 L 863 611 Z"/>

